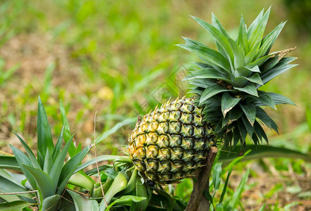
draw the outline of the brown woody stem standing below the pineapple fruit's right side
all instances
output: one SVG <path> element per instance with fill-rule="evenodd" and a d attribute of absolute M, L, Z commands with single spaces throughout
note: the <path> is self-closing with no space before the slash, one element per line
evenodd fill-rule
<path fill-rule="evenodd" d="M 193 180 L 193 192 L 185 211 L 209 210 L 209 200 L 203 196 L 203 192 L 209 191 L 209 174 L 212 171 L 217 153 L 218 149 L 212 146 L 211 151 L 207 155 L 205 167 L 197 175 L 196 181 Z"/>

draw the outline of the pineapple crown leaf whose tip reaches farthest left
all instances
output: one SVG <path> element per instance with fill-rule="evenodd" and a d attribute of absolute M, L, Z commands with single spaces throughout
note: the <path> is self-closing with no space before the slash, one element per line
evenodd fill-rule
<path fill-rule="evenodd" d="M 214 49 L 210 49 L 207 46 L 197 46 L 194 44 L 178 44 L 177 46 L 180 46 L 183 49 L 195 53 L 200 58 L 207 60 L 213 65 L 223 68 L 227 72 L 231 72 L 228 60 L 226 60 L 226 58 L 224 58 L 221 53 L 215 51 Z"/>

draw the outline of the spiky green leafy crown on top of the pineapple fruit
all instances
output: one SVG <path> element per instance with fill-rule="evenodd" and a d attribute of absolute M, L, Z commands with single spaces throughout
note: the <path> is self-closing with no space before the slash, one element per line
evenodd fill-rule
<path fill-rule="evenodd" d="M 293 68 L 289 64 L 295 57 L 285 57 L 293 49 L 269 53 L 285 22 L 269 32 L 264 30 L 270 8 L 255 18 L 250 27 L 240 18 L 238 36 L 232 39 L 217 17 L 212 14 L 212 25 L 200 18 L 193 19 L 214 38 L 218 51 L 198 41 L 183 37 L 183 49 L 195 53 L 203 61 L 195 63 L 197 69 L 185 77 L 192 85 L 190 93 L 196 94 L 196 103 L 204 106 L 205 120 L 212 122 L 214 133 L 224 139 L 224 147 L 240 141 L 245 146 L 246 136 L 257 145 L 267 135 L 262 124 L 279 133 L 279 129 L 260 106 L 276 110 L 277 104 L 295 105 L 280 94 L 258 90 L 271 79 Z"/>

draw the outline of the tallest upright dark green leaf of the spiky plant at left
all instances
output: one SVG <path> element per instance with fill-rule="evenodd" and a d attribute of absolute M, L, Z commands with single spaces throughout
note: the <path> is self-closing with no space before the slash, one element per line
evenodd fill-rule
<path fill-rule="evenodd" d="M 51 136 L 51 129 L 49 127 L 49 121 L 47 120 L 47 113 L 45 112 L 43 103 L 39 98 L 38 101 L 38 113 L 37 113 L 37 150 L 38 161 L 43 166 L 42 159 L 39 156 L 45 156 L 47 154 L 47 149 L 50 152 L 54 151 L 53 139 Z"/>

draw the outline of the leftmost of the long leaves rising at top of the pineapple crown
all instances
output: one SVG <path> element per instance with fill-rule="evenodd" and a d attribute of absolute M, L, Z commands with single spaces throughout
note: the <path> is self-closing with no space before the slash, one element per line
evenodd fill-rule
<path fill-rule="evenodd" d="M 234 58 L 233 58 L 233 51 L 230 47 L 230 44 L 228 42 L 227 37 L 221 33 L 221 31 L 219 31 L 217 29 L 217 27 L 214 27 L 213 25 L 210 25 L 209 23 L 205 22 L 204 20 L 200 19 L 200 18 L 195 18 L 192 16 L 192 18 L 199 23 L 205 30 L 207 30 L 207 32 L 209 32 L 209 34 L 212 35 L 212 37 L 214 37 L 214 39 L 217 41 L 217 43 L 221 46 L 222 49 L 224 49 L 224 53 L 228 60 L 231 60 L 231 62 L 233 62 Z"/>

